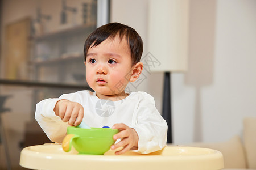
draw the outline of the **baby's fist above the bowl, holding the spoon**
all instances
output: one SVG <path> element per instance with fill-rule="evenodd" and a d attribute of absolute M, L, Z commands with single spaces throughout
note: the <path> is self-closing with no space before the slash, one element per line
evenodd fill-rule
<path fill-rule="evenodd" d="M 70 126 L 78 126 L 84 117 L 84 107 L 81 104 L 65 99 L 57 101 L 53 111 Z"/>

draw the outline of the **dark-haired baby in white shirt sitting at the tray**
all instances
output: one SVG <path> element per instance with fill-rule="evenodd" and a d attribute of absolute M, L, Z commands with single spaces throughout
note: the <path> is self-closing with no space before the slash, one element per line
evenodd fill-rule
<path fill-rule="evenodd" d="M 77 91 L 36 104 L 35 118 L 52 142 L 62 142 L 68 126 L 85 121 L 91 127 L 119 129 L 121 139 L 111 146 L 115 154 L 135 150 L 148 154 L 166 146 L 167 124 L 146 92 L 125 92 L 139 78 L 143 42 L 131 27 L 109 23 L 85 41 L 86 80 L 94 90 Z"/>

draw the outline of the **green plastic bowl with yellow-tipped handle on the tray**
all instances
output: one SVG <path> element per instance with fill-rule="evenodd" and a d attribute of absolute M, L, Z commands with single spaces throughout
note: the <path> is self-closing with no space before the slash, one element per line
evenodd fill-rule
<path fill-rule="evenodd" d="M 68 127 L 67 135 L 63 140 L 63 150 L 68 152 L 73 146 L 79 154 L 102 155 L 114 144 L 113 135 L 117 129 Z"/>

